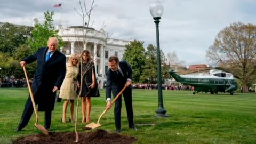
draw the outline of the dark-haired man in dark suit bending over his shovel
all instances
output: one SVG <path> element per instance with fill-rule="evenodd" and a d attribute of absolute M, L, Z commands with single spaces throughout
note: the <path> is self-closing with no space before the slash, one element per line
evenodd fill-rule
<path fill-rule="evenodd" d="M 108 59 L 109 69 L 106 72 L 107 84 L 106 84 L 106 98 L 107 107 L 111 108 L 111 92 L 116 95 L 123 89 L 124 85 L 128 85 L 124 92 L 124 102 L 126 106 L 127 118 L 129 127 L 137 131 L 137 128 L 133 122 L 133 109 L 132 109 L 132 68 L 126 61 L 119 61 L 118 57 L 111 56 Z M 116 132 L 121 132 L 121 108 L 122 97 L 119 97 L 115 102 L 115 125 Z"/>

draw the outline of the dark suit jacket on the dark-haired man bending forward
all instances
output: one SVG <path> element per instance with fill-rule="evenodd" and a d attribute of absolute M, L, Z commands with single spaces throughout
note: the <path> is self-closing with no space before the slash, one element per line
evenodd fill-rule
<path fill-rule="evenodd" d="M 132 79 L 132 68 L 126 61 L 119 61 L 119 67 L 121 68 L 124 76 L 117 73 L 117 71 L 112 71 L 110 68 L 106 72 L 106 98 L 111 98 L 111 90 L 113 87 L 117 89 L 123 89 L 127 78 Z"/>

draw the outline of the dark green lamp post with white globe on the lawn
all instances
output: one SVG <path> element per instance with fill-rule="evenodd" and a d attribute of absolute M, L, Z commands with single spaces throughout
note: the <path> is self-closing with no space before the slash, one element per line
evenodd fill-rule
<path fill-rule="evenodd" d="M 162 92 L 162 70 L 161 70 L 161 55 L 159 44 L 159 29 L 158 24 L 163 14 L 164 7 L 159 0 L 150 4 L 149 11 L 152 15 L 154 22 L 156 23 L 156 48 L 157 48 L 157 90 L 158 90 L 158 108 L 156 110 L 155 117 L 167 117 L 166 110 L 163 104 L 163 92 Z"/>

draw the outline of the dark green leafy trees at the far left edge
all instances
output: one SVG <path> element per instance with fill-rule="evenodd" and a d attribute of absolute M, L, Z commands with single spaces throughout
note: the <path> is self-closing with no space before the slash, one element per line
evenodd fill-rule
<path fill-rule="evenodd" d="M 17 67 L 19 61 L 15 60 L 13 55 L 18 47 L 25 44 L 27 38 L 31 37 L 32 27 L 13 25 L 4 23 L 0 27 L 0 77 L 14 75 L 19 77 L 20 67 Z"/>

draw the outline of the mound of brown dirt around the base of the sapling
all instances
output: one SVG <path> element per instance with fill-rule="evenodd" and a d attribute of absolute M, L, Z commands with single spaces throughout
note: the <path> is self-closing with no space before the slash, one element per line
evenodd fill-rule
<path fill-rule="evenodd" d="M 59 133 L 51 132 L 49 135 L 44 134 L 35 134 L 28 135 L 27 137 L 22 137 L 14 141 L 15 144 L 63 144 L 63 143 L 72 143 L 76 141 L 75 132 Z M 107 131 L 98 129 L 97 131 L 79 133 L 79 142 L 78 143 L 105 143 L 105 144 L 128 144 L 136 141 L 135 137 L 128 137 L 126 135 L 119 135 L 118 133 L 109 133 Z"/>

